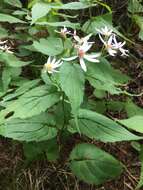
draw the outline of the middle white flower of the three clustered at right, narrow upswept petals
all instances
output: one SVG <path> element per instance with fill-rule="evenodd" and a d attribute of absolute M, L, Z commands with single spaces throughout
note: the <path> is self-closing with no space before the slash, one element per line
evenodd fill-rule
<path fill-rule="evenodd" d="M 100 34 L 99 34 L 99 38 L 103 42 L 103 44 L 104 44 L 106 50 L 108 51 L 109 55 L 115 56 L 117 54 L 117 50 L 116 50 L 117 48 L 116 48 L 115 44 L 113 44 L 113 38 L 114 38 L 114 36 L 111 35 L 107 41 L 105 41 L 101 37 Z"/>

